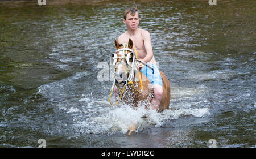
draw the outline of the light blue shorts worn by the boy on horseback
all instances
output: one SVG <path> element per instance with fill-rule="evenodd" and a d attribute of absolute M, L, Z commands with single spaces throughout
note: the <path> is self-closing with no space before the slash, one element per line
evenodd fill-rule
<path fill-rule="evenodd" d="M 147 66 L 144 65 L 141 69 L 142 74 L 146 75 L 148 80 L 150 80 L 153 85 L 158 84 L 163 87 L 163 81 L 162 81 L 160 72 L 158 70 L 158 67 L 156 67 L 154 63 L 152 64 L 147 63 L 147 65 L 151 66 L 154 72 L 151 68 L 148 68 Z"/>

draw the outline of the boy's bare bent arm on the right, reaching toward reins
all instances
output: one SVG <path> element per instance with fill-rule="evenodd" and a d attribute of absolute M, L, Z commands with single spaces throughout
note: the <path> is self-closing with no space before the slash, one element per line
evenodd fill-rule
<path fill-rule="evenodd" d="M 144 57 L 142 59 L 142 61 L 144 63 L 147 63 L 148 61 L 150 61 L 153 57 L 153 50 L 152 50 L 152 45 L 151 45 L 151 37 L 150 37 L 150 33 L 148 31 L 144 31 L 143 33 L 143 37 L 144 37 L 144 46 L 147 52 L 146 57 Z"/>

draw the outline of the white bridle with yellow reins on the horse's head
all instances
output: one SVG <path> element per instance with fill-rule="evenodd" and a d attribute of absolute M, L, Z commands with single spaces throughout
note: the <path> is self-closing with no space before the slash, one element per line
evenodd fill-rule
<path fill-rule="evenodd" d="M 139 91 L 137 88 L 135 88 L 135 87 L 134 87 L 134 84 L 133 84 L 133 80 L 134 80 L 134 76 L 135 76 L 135 65 L 136 65 L 136 63 L 137 63 L 137 51 L 136 51 L 136 49 L 134 48 L 134 50 L 135 50 L 135 57 L 134 57 L 134 55 L 133 55 L 133 62 L 131 62 L 131 64 L 130 64 L 130 63 L 129 63 L 129 61 L 130 61 L 130 55 L 131 55 L 131 53 L 134 54 L 134 51 L 133 51 L 132 49 L 129 49 L 127 44 L 123 44 L 123 46 L 124 46 L 124 47 L 123 47 L 122 49 L 118 49 L 118 50 L 115 51 L 115 53 L 113 54 L 113 61 L 112 61 L 112 59 L 110 59 L 110 63 L 112 63 L 112 65 L 115 66 L 115 65 L 119 65 L 119 63 L 120 63 L 123 59 L 126 59 L 126 65 L 127 65 L 127 67 L 126 67 L 126 72 L 127 72 L 127 73 L 130 72 L 130 74 L 129 74 L 129 76 L 128 76 L 128 78 L 127 78 L 126 81 L 122 81 L 122 83 L 123 83 L 123 88 L 120 88 L 120 87 L 117 85 L 118 82 L 117 82 L 116 79 L 114 80 L 114 83 L 113 83 L 112 88 L 111 88 L 111 93 L 110 93 L 110 95 L 109 95 L 109 103 L 110 103 L 110 105 L 117 105 L 117 104 L 119 103 L 119 101 L 121 100 L 121 98 L 122 98 L 122 96 L 123 96 L 123 93 L 125 93 L 126 86 L 131 86 L 131 87 L 133 87 L 138 93 L 142 93 L 142 91 L 143 91 L 143 85 L 142 85 L 141 72 L 140 72 L 140 70 L 138 70 L 138 71 L 139 71 L 139 82 L 140 82 L 140 84 L 141 84 L 141 91 Z M 119 52 L 119 51 L 121 51 L 121 52 Z M 131 52 L 127 54 L 127 51 L 131 51 Z M 119 52 L 119 53 L 118 53 L 118 52 Z M 118 53 L 119 55 L 121 55 L 121 57 L 118 57 L 118 56 L 117 56 L 117 53 Z M 118 58 L 121 58 L 121 60 L 120 60 L 118 63 L 116 63 Z M 136 59 L 135 59 L 135 58 L 136 58 Z M 129 70 L 129 66 L 131 67 L 131 71 Z M 136 69 L 136 70 L 137 70 L 137 69 Z M 115 72 L 116 72 L 116 67 L 115 67 Z M 115 85 L 117 86 L 117 88 L 118 88 L 120 94 L 119 94 L 119 100 L 118 100 L 117 102 L 115 102 L 115 104 L 112 104 L 112 102 L 110 101 L 110 98 L 111 98 L 111 95 L 112 95 L 112 93 L 113 93 L 113 90 L 114 90 Z"/>

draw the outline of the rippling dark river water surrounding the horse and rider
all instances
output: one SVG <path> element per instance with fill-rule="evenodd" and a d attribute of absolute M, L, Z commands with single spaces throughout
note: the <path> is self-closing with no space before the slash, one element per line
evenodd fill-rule
<path fill-rule="evenodd" d="M 137 1 L 171 84 L 161 114 L 110 106 L 98 80 L 130 1 L 0 4 L 0 147 L 255 147 L 255 1 Z"/>

